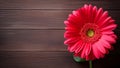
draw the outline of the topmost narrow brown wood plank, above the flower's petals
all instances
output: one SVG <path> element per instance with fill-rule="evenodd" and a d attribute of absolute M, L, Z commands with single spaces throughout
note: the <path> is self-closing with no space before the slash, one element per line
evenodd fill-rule
<path fill-rule="evenodd" d="M 84 4 L 120 9 L 119 3 L 119 0 L 0 0 L 0 9 L 76 9 Z"/>

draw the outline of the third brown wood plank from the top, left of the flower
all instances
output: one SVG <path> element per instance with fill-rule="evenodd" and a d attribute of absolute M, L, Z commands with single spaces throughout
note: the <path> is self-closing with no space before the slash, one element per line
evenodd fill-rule
<path fill-rule="evenodd" d="M 64 30 L 0 30 L 0 51 L 66 51 Z"/>

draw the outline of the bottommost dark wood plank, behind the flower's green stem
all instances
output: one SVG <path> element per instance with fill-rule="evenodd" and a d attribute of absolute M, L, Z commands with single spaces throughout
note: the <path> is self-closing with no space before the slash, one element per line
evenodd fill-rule
<path fill-rule="evenodd" d="M 120 55 L 93 61 L 94 68 L 118 68 Z M 76 63 L 68 52 L 0 52 L 0 68 L 88 68 Z"/>

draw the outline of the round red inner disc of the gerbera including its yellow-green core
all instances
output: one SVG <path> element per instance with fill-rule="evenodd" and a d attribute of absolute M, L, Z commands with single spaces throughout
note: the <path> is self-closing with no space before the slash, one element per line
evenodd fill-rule
<path fill-rule="evenodd" d="M 80 29 L 80 38 L 84 42 L 94 43 L 101 37 L 101 32 L 99 27 L 94 23 L 86 23 Z"/>

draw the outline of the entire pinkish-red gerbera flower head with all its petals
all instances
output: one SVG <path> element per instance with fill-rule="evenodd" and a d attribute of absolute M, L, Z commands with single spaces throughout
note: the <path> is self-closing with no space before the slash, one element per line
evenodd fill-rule
<path fill-rule="evenodd" d="M 64 44 L 74 56 L 86 60 L 103 58 L 112 49 L 111 44 L 116 42 L 113 30 L 117 25 L 114 22 L 107 11 L 85 4 L 64 21 Z"/>

